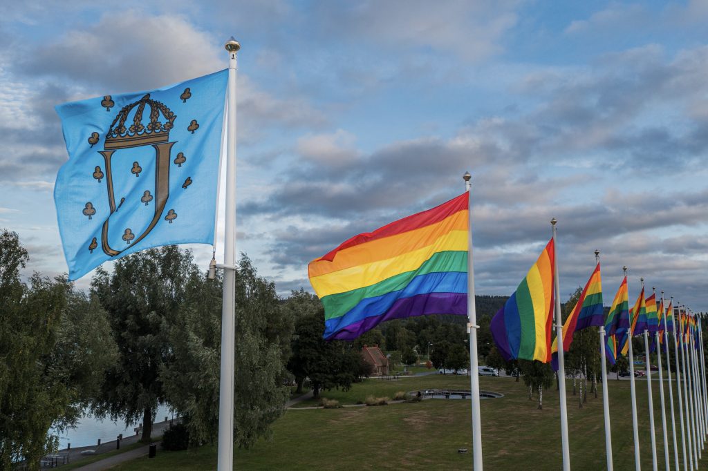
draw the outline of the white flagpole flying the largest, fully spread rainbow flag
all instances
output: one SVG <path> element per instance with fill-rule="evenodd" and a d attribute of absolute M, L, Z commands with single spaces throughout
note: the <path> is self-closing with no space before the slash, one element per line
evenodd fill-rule
<path fill-rule="evenodd" d="M 467 315 L 469 324 L 469 380 L 472 389 L 472 464 L 474 471 L 482 471 L 482 427 L 479 414 L 479 368 L 477 368 L 477 315 L 474 303 L 474 264 L 472 263 L 472 175 L 466 172 L 462 179 L 467 190 Z"/>

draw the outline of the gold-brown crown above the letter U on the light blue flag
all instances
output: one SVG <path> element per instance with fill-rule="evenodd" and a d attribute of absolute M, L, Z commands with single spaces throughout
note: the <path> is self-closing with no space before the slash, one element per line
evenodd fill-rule
<path fill-rule="evenodd" d="M 150 122 L 143 124 L 146 105 L 149 107 Z M 164 122 L 161 122 L 160 115 Z M 132 124 L 130 127 L 125 127 L 125 123 L 130 122 L 128 118 L 131 116 Z M 105 149 L 126 149 L 168 142 L 175 118 L 176 115 L 164 103 L 152 100 L 148 93 L 135 103 L 125 105 L 118 112 L 106 133 Z"/>

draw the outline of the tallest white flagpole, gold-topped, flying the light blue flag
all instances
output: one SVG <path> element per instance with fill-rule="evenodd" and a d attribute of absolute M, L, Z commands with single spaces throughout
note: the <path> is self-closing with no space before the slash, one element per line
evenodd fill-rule
<path fill-rule="evenodd" d="M 224 225 L 224 293 L 222 304 L 221 377 L 219 378 L 219 441 L 217 469 L 234 469 L 234 316 L 236 312 L 236 52 L 241 45 L 230 38 L 229 107 L 227 122 L 226 223 Z"/>

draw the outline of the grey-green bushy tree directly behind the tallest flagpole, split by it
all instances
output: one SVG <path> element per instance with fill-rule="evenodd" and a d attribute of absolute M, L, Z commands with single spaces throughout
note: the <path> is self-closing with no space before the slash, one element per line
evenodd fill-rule
<path fill-rule="evenodd" d="M 247 257 L 238 268 L 234 441 L 249 448 L 270 435 L 270 424 L 284 411 L 292 317 L 275 285 L 258 277 Z M 222 277 L 192 272 L 185 280 L 183 304 L 169 326 L 173 361 L 160 371 L 166 400 L 185 418 L 193 446 L 213 441 L 218 431 L 222 289 Z"/>

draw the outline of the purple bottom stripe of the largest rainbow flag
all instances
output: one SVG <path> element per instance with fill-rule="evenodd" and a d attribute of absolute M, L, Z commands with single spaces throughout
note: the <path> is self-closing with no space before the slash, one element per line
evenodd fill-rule
<path fill-rule="evenodd" d="M 427 293 L 399 299 L 384 315 L 373 315 L 342 327 L 327 340 L 353 340 L 380 322 L 430 314 L 467 315 L 467 293 Z"/>

